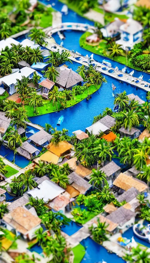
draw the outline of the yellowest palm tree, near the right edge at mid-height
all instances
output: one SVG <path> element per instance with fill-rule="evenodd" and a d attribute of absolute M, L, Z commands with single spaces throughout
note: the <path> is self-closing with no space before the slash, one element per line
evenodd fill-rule
<path fill-rule="evenodd" d="M 134 164 L 137 170 L 140 170 L 146 165 L 146 159 L 148 155 L 146 154 L 144 147 L 142 147 L 141 149 L 135 149 L 134 152 Z"/>

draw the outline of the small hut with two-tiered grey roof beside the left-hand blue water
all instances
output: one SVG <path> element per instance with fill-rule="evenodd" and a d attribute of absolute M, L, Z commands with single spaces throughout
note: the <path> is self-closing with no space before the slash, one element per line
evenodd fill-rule
<path fill-rule="evenodd" d="M 22 155 L 26 159 L 30 160 L 33 156 L 36 156 L 40 153 L 40 151 L 35 148 L 33 145 L 28 143 L 28 141 L 24 141 L 20 147 L 17 149 L 18 154 Z"/>

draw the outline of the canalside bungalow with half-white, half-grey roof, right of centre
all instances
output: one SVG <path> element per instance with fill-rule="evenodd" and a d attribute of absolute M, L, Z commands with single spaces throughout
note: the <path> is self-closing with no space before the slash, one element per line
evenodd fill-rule
<path fill-rule="evenodd" d="M 86 131 L 89 133 L 93 133 L 94 135 L 98 135 L 101 132 L 104 132 L 105 134 L 108 134 L 110 131 L 110 128 L 115 125 L 115 118 L 106 115 L 102 119 L 100 119 L 98 122 L 95 122 L 91 126 L 86 128 Z"/>

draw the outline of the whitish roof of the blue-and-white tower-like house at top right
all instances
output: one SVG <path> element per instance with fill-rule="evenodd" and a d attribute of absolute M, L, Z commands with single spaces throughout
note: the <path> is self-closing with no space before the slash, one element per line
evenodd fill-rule
<path fill-rule="evenodd" d="M 142 30 L 143 27 L 141 26 L 141 24 L 135 20 L 133 20 L 132 18 L 129 18 L 127 20 L 127 23 L 123 24 L 122 26 L 120 26 L 120 30 L 125 31 L 129 34 L 135 34 L 138 31 Z"/>

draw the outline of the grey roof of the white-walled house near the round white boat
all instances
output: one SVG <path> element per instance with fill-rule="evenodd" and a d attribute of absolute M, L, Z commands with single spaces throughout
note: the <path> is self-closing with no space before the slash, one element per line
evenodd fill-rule
<path fill-rule="evenodd" d="M 135 213 L 125 209 L 124 207 L 118 208 L 116 211 L 112 212 L 110 215 L 107 215 L 106 218 L 111 220 L 114 223 L 123 226 L 128 222 L 132 217 L 135 217 Z"/>

